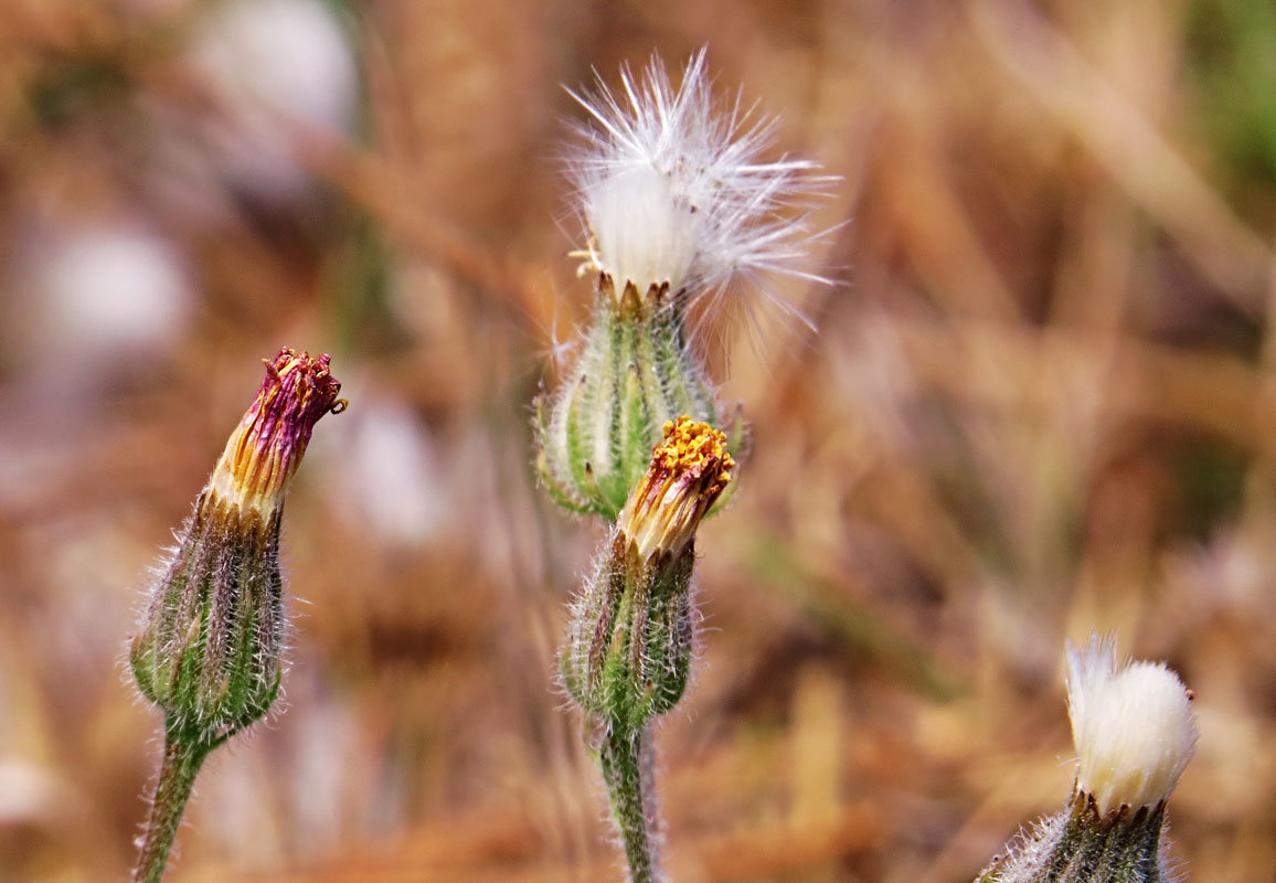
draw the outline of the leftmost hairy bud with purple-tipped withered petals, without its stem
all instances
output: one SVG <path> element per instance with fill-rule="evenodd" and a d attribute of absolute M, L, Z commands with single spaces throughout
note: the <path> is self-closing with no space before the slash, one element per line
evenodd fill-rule
<path fill-rule="evenodd" d="M 345 408 L 328 356 L 281 350 L 152 591 L 130 661 L 142 693 L 213 743 L 265 713 L 283 642 L 283 496 L 315 422 Z"/>

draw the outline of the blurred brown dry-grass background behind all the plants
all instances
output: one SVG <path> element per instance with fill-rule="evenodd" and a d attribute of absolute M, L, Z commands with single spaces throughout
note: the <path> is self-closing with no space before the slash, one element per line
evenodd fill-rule
<path fill-rule="evenodd" d="M 125 877 L 122 646 L 283 345 L 351 407 L 288 503 L 283 713 L 170 879 L 619 879 L 553 678 L 598 532 L 528 470 L 590 299 L 560 84 L 703 43 L 849 222 L 785 287 L 818 336 L 715 353 L 754 449 L 660 730 L 672 879 L 970 880 L 1068 794 L 1091 629 L 1197 692 L 1192 878 L 1276 879 L 1267 0 L 8 0 L 0 879 Z"/>

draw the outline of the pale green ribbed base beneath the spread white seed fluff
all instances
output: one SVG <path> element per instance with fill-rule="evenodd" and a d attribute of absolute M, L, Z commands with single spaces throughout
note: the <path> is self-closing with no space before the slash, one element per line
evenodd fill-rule
<path fill-rule="evenodd" d="M 607 521 L 647 468 L 661 427 L 678 415 L 716 425 L 713 390 L 688 348 L 669 285 L 619 295 L 601 273 L 593 324 L 553 401 L 536 403 L 536 463 L 555 501 Z M 744 421 L 731 421 L 739 450 Z"/>

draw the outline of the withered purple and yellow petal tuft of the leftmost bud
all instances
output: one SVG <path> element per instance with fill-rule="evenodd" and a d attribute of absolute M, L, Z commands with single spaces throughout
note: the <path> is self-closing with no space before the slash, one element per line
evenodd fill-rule
<path fill-rule="evenodd" d="M 268 521 L 310 443 L 319 417 L 345 410 L 341 384 L 328 370 L 329 359 L 311 359 L 285 347 L 265 362 L 265 379 L 240 425 L 231 434 L 212 477 L 209 501 L 255 512 Z"/>

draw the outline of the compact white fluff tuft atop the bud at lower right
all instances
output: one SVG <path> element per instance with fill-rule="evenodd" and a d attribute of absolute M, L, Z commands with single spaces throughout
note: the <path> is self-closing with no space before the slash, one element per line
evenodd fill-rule
<path fill-rule="evenodd" d="M 1154 806 L 1179 781 L 1196 750 L 1191 693 L 1161 662 L 1116 669 L 1113 638 L 1068 643 L 1068 713 L 1079 767 L 1077 787 L 1100 813 Z"/>

